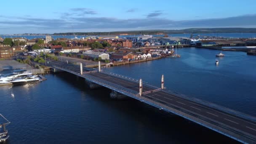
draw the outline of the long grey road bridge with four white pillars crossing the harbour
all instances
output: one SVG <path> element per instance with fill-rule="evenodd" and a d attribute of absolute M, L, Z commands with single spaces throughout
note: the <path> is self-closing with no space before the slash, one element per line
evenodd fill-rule
<path fill-rule="evenodd" d="M 101 70 L 100 63 L 99 69 L 69 64 L 68 61 L 48 60 L 47 65 L 179 115 L 242 143 L 256 144 L 256 117 L 168 91 L 164 88 L 163 76 L 158 88 L 142 80 Z"/>

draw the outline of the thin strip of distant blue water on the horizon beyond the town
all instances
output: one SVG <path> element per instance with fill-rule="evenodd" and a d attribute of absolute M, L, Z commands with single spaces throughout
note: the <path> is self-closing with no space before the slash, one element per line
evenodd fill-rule
<path fill-rule="evenodd" d="M 172 37 L 190 37 L 190 34 L 168 34 L 169 36 Z M 230 38 L 239 38 L 239 37 L 243 37 L 243 38 L 255 38 L 256 37 L 256 33 L 208 33 L 208 34 L 193 34 L 193 35 L 200 35 L 200 36 L 211 36 L 211 37 L 230 37 Z M 42 38 L 45 37 L 45 35 L 0 35 L 3 38 L 7 38 L 7 37 L 26 37 L 27 39 L 31 40 L 34 38 Z M 140 36 L 140 35 L 119 35 L 119 37 L 133 37 L 133 36 Z M 153 35 L 154 37 L 161 37 L 164 35 Z M 75 38 L 74 35 L 52 35 L 52 38 L 54 38 L 55 40 L 57 38 Z M 87 37 L 86 36 L 81 36 L 78 35 L 77 38 L 82 38 L 82 37 Z"/>

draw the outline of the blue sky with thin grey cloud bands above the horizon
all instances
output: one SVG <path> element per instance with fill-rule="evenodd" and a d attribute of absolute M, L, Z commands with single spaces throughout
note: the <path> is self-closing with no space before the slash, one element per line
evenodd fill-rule
<path fill-rule="evenodd" d="M 256 0 L 4 0 L 0 34 L 256 27 Z"/>

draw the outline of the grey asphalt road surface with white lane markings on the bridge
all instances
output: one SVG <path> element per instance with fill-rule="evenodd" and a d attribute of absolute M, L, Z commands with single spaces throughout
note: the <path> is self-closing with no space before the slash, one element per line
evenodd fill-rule
<path fill-rule="evenodd" d="M 73 70 L 75 72 L 80 72 L 80 67 L 72 64 L 61 64 L 58 62 L 53 62 L 54 65 L 58 65 L 59 67 L 64 67 L 66 69 Z M 87 68 L 83 68 L 84 71 L 89 71 Z M 123 88 L 129 89 L 134 92 L 134 94 L 139 93 L 139 81 L 127 80 L 125 78 L 121 78 L 115 75 L 111 75 L 108 73 L 102 72 L 92 72 L 85 75 L 89 75 L 92 77 L 97 77 L 101 80 L 105 80 L 109 83 L 117 84 Z M 159 83 L 160 85 L 160 83 Z M 148 92 L 155 90 L 147 84 L 143 84 L 143 92 Z M 197 103 L 196 101 L 192 101 L 189 99 L 185 99 L 184 97 L 177 96 L 172 93 L 168 93 L 166 91 L 154 91 L 147 94 L 142 94 L 141 97 L 151 99 L 152 101 L 159 102 L 166 106 L 170 107 L 178 107 L 179 109 L 183 109 L 187 112 L 192 112 L 199 117 L 203 117 L 206 120 L 214 121 L 218 125 L 224 126 L 224 128 L 229 127 L 234 130 L 238 130 L 245 135 L 249 135 L 250 137 L 256 138 L 256 121 L 248 120 L 244 117 L 240 117 L 238 115 L 234 115 L 229 112 L 222 111 L 220 109 L 215 109 L 213 107 L 209 107 L 207 105 Z M 229 135 L 229 133 L 225 133 Z M 229 136 L 232 136 L 229 135 Z M 232 137 L 234 138 L 234 137 Z M 239 138 L 238 138 L 239 139 Z M 243 141 L 243 139 L 241 139 Z M 246 141 L 244 141 L 246 142 Z M 249 143 L 256 143 L 255 139 L 250 141 Z"/>

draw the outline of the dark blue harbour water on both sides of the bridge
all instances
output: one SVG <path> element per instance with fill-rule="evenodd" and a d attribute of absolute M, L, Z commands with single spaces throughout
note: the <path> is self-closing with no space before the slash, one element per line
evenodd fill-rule
<path fill-rule="evenodd" d="M 256 116 L 256 57 L 244 52 L 182 48 L 181 58 L 104 68 Z M 133 99 L 90 90 L 77 76 L 45 75 L 42 83 L 0 87 L 0 113 L 11 124 L 7 144 L 236 143 L 208 128 Z M 118 82 L 117 82 L 118 83 Z"/>

